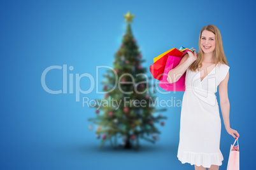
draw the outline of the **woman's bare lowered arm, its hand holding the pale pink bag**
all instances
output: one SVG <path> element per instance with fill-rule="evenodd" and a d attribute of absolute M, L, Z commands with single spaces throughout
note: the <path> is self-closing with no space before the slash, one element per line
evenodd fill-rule
<path fill-rule="evenodd" d="M 227 130 L 227 133 L 231 134 L 234 138 L 239 138 L 238 131 L 230 128 L 230 122 L 229 122 L 229 110 L 230 110 L 230 103 L 229 103 L 229 96 L 227 95 L 227 82 L 229 81 L 229 71 L 227 72 L 227 75 L 225 79 L 220 82 L 218 85 L 218 93 L 220 94 L 220 108 L 222 110 L 222 117 L 225 124 L 225 129 Z M 236 136 L 234 135 L 236 134 Z"/>

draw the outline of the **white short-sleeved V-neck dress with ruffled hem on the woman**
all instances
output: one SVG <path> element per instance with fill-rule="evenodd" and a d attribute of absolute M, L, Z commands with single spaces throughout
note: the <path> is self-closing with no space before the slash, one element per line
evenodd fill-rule
<path fill-rule="evenodd" d="M 215 93 L 228 70 L 228 65 L 218 63 L 201 81 L 198 70 L 192 72 L 187 69 L 177 155 L 182 164 L 187 162 L 203 167 L 222 165 L 221 120 Z"/>

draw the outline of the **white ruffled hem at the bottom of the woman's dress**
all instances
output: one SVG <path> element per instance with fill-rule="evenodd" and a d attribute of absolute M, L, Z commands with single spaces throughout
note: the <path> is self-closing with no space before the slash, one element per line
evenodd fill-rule
<path fill-rule="evenodd" d="M 191 165 L 211 167 L 211 165 L 222 165 L 224 157 L 221 152 L 214 154 L 195 153 L 195 152 L 178 152 L 178 160 L 182 164 L 190 163 Z"/>

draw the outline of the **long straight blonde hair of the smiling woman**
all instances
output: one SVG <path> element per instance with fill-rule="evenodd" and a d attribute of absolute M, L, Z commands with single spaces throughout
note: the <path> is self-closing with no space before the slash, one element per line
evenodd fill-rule
<path fill-rule="evenodd" d="M 213 55 L 213 60 L 215 61 L 215 65 L 217 65 L 219 62 L 220 63 L 225 63 L 227 65 L 227 59 L 224 54 L 224 49 L 222 46 L 222 36 L 220 35 L 220 30 L 215 25 L 206 25 L 201 29 L 200 36 L 199 36 L 199 52 L 197 53 L 197 60 L 194 61 L 188 69 L 192 71 L 196 71 L 197 69 L 202 67 L 202 62 L 203 62 L 203 49 L 201 48 L 201 36 L 202 32 L 204 30 L 208 30 L 210 32 L 213 32 L 215 34 L 215 50 L 214 50 L 214 55 Z"/>

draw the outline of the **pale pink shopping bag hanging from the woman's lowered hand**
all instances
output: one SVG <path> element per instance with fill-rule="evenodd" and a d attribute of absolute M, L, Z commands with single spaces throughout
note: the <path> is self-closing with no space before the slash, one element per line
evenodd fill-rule
<path fill-rule="evenodd" d="M 238 140 L 238 138 L 236 140 Z M 234 141 L 234 144 L 236 143 L 236 140 Z M 239 170 L 239 145 L 234 146 L 234 144 L 231 144 L 227 170 Z"/>

